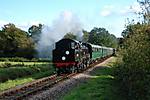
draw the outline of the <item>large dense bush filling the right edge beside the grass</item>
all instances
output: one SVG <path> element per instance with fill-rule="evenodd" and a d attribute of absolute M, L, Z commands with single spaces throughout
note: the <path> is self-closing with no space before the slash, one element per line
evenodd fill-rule
<path fill-rule="evenodd" d="M 127 100 L 150 99 L 150 26 L 132 25 L 121 49 L 122 61 L 114 70 Z"/>

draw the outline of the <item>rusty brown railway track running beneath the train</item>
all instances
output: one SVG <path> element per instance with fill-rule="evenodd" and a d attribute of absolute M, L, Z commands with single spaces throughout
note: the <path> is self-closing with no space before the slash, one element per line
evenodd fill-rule
<path fill-rule="evenodd" d="M 105 59 L 96 61 L 95 63 L 89 65 L 87 67 L 87 69 L 104 61 Z M 86 71 L 87 69 L 85 69 L 83 71 Z M 42 78 L 42 79 L 33 81 L 31 83 L 27 83 L 25 85 L 3 91 L 0 93 L 0 100 L 22 100 L 24 97 L 27 97 L 29 95 L 34 95 L 37 92 L 47 89 L 49 87 L 52 87 L 53 85 L 65 80 L 65 79 L 68 79 L 76 74 L 77 73 L 64 74 L 61 76 L 57 76 L 56 74 L 54 74 L 52 76 Z"/>

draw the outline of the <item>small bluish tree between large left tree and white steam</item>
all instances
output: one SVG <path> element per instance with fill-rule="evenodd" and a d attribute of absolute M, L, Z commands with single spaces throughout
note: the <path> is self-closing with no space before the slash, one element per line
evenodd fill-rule
<path fill-rule="evenodd" d="M 29 29 L 28 32 L 31 35 L 31 38 L 33 39 L 33 41 L 35 43 L 38 43 L 38 41 L 40 40 L 40 35 L 42 33 L 42 24 L 39 24 L 38 26 L 36 25 L 32 25 Z"/>

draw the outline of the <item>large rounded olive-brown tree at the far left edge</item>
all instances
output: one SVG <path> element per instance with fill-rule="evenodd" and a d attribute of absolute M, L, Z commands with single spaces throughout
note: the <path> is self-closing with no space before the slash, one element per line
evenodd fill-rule
<path fill-rule="evenodd" d="M 4 25 L 0 31 L 0 56 L 33 57 L 34 45 L 29 34 L 14 24 Z"/>

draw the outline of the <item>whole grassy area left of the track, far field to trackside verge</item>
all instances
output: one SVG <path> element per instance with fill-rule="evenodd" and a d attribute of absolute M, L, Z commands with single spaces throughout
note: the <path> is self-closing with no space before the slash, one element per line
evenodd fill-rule
<path fill-rule="evenodd" d="M 0 59 L 0 91 L 49 76 L 54 72 L 54 67 L 48 60 L 42 62 L 25 58 Z"/>

